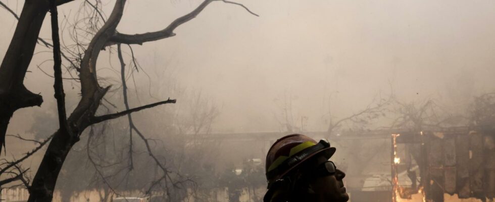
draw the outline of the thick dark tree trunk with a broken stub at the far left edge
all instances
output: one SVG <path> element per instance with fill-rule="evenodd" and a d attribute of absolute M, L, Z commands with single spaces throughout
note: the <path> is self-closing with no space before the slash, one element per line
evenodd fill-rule
<path fill-rule="evenodd" d="M 40 106 L 41 95 L 24 87 L 23 81 L 34 53 L 48 2 L 26 0 L 2 65 L 0 65 L 0 151 L 10 118 L 21 108 Z"/>

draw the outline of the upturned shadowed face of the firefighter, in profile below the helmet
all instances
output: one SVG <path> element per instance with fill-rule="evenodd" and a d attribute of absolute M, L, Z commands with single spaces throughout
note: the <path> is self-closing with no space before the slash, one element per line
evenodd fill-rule
<path fill-rule="evenodd" d="M 320 165 L 326 161 L 327 159 L 325 157 L 320 156 L 315 163 L 316 165 Z M 337 169 L 334 175 L 311 180 L 310 187 L 317 196 L 317 201 L 348 201 L 349 194 L 345 192 L 344 183 L 342 181 L 344 177 L 345 173 Z"/>

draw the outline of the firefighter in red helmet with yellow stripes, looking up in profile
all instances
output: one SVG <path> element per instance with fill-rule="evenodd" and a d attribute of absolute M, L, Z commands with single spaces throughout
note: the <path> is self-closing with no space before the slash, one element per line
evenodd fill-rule
<path fill-rule="evenodd" d="M 266 157 L 268 191 L 263 201 L 348 201 L 345 174 L 328 161 L 334 153 L 326 139 L 317 142 L 301 134 L 278 139 Z"/>

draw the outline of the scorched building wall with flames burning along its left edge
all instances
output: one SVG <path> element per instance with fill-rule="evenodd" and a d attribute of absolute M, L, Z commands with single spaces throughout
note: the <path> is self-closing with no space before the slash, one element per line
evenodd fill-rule
<path fill-rule="evenodd" d="M 393 134 L 392 139 L 392 148 L 402 147 L 403 154 L 393 157 L 397 149 L 392 150 L 391 174 L 405 170 L 412 182 L 408 186 L 394 183 L 396 192 L 392 195 L 411 198 L 419 192 L 424 201 L 434 202 L 444 201 L 444 193 L 482 201 L 495 198 L 493 129 L 456 127 L 437 132 L 405 132 Z M 401 163 L 398 156 L 405 161 Z"/>

